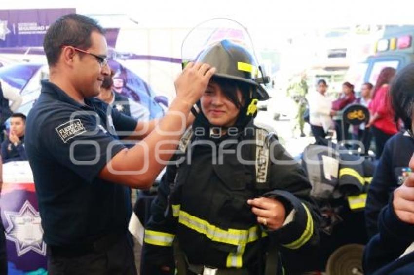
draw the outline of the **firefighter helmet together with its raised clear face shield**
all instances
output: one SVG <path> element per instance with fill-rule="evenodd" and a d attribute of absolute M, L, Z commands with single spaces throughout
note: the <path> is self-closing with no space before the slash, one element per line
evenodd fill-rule
<path fill-rule="evenodd" d="M 250 36 L 238 22 L 213 19 L 196 26 L 184 39 L 181 52 L 183 65 L 190 61 L 207 63 L 216 68 L 216 77 L 251 84 L 255 88 L 253 98 L 269 98 L 258 81 L 264 76 Z"/>

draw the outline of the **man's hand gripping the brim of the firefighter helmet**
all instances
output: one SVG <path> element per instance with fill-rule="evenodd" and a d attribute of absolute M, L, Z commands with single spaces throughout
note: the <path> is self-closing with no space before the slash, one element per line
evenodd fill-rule
<path fill-rule="evenodd" d="M 189 62 L 174 82 L 177 98 L 190 106 L 194 105 L 206 91 L 215 71 L 207 63 Z"/>

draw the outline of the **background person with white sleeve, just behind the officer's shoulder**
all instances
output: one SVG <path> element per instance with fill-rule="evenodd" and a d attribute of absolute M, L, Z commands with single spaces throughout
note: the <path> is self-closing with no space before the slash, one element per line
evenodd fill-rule
<path fill-rule="evenodd" d="M 148 121 L 150 119 L 150 111 L 147 108 L 133 101 L 131 98 L 113 92 L 113 75 L 114 72 L 111 70 L 111 74 L 104 77 L 98 98 L 129 117 L 138 119 L 139 121 Z"/>

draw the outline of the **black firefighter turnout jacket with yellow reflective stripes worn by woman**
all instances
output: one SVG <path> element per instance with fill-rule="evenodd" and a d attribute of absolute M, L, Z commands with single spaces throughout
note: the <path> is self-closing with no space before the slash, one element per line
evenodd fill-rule
<path fill-rule="evenodd" d="M 263 274 L 259 270 L 264 270 L 260 266 L 269 245 L 278 247 L 279 262 L 285 253 L 294 253 L 298 262 L 313 253 L 319 243 L 319 212 L 303 169 L 274 136 L 252 122 L 248 126 L 220 138 L 195 131 L 182 138 L 179 147 L 185 154 L 176 154 L 176 163 L 167 166 L 151 205 L 144 265 L 173 271 L 174 240 L 188 264 L 248 274 Z M 260 168 L 260 163 L 267 165 Z M 247 200 L 260 196 L 284 205 L 281 228 L 269 231 L 257 223 Z M 144 274 L 150 272 L 144 268 Z"/>

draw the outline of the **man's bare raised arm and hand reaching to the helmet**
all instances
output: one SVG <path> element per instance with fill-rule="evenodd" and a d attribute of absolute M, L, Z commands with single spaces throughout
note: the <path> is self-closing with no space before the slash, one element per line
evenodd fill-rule
<path fill-rule="evenodd" d="M 119 151 L 99 177 L 134 188 L 149 188 L 174 154 L 191 107 L 203 95 L 214 72 L 208 64 L 188 63 L 175 80 L 177 96 L 164 118 L 141 142 Z"/>

